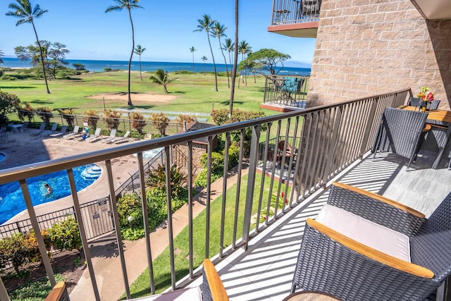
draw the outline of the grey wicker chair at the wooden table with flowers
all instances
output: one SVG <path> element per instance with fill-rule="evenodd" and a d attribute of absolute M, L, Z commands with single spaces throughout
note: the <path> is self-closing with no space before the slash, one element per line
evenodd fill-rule
<path fill-rule="evenodd" d="M 427 116 L 428 113 L 424 112 L 385 108 L 371 149 L 373 158 L 376 158 L 377 151 L 393 152 L 409 159 L 409 169 L 426 135 Z"/>

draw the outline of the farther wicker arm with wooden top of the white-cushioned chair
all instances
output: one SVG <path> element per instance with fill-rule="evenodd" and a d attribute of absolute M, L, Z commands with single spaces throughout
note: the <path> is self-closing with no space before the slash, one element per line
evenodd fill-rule
<path fill-rule="evenodd" d="M 427 221 L 421 212 L 393 199 L 337 182 L 332 183 L 328 204 L 407 236 L 418 233 Z"/>

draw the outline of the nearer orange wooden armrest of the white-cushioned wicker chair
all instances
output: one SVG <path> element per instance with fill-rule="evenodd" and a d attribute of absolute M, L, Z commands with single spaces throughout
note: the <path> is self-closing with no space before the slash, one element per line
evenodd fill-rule
<path fill-rule="evenodd" d="M 352 240 L 337 231 L 334 231 L 327 226 L 324 226 L 322 223 L 318 221 L 314 221 L 313 219 L 307 219 L 307 224 L 314 228 L 316 231 L 323 233 L 328 238 L 335 240 L 335 242 L 340 243 L 341 245 L 362 254 L 365 257 L 375 260 L 376 262 L 380 262 L 381 264 L 385 264 L 386 266 L 390 266 L 393 269 L 398 269 L 403 271 L 404 273 L 408 273 L 421 278 L 433 278 L 434 273 L 430 269 L 426 269 L 423 266 L 419 266 L 417 264 L 412 264 L 410 262 L 404 262 L 404 260 L 398 259 L 396 257 L 390 256 L 383 252 L 373 249 L 372 247 L 368 247 L 356 240 Z"/>

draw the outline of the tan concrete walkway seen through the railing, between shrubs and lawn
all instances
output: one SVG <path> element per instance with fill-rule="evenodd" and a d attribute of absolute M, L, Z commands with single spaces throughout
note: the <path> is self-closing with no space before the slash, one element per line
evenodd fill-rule
<path fill-rule="evenodd" d="M 243 165 L 242 176 L 247 174 L 247 164 Z M 227 188 L 237 183 L 237 173 L 230 172 Z M 211 184 L 210 200 L 213 201 L 222 194 L 223 178 Z M 193 199 L 193 216 L 197 216 L 206 203 L 206 189 L 199 192 Z M 173 237 L 188 224 L 188 207 L 185 205 L 173 214 Z M 155 259 L 168 247 L 168 228 L 159 227 L 150 235 L 152 259 Z M 98 240 L 89 246 L 92 256 L 92 265 L 96 276 L 101 300 L 118 300 L 125 292 L 122 278 L 121 260 L 118 257 L 116 240 L 113 237 Z M 137 279 L 147 268 L 146 240 L 142 238 L 135 241 L 124 242 L 125 266 L 127 268 L 129 284 Z M 71 301 L 95 300 L 89 270 L 83 272 L 82 277 L 70 293 Z"/>

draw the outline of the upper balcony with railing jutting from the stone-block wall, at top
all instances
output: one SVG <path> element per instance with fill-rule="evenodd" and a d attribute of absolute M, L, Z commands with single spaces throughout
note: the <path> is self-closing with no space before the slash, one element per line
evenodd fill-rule
<path fill-rule="evenodd" d="M 289 37 L 316 37 L 321 0 L 273 0 L 268 32 Z"/>

